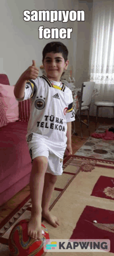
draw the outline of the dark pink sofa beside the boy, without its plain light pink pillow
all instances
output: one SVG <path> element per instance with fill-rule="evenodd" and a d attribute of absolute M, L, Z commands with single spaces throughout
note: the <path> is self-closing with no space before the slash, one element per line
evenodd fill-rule
<path fill-rule="evenodd" d="M 9 85 L 7 75 L 0 74 L 1 84 Z M 24 113 L 26 106 L 27 111 L 30 110 L 29 100 L 18 106 L 18 120 L 0 127 L 0 205 L 29 184 L 30 180 L 32 163 L 25 140 L 30 112 L 27 119 Z"/>

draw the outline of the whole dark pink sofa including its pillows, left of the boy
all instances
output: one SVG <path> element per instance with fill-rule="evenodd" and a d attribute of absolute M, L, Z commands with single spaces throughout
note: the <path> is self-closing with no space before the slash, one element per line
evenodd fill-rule
<path fill-rule="evenodd" d="M 29 184 L 31 157 L 25 140 L 30 101 L 20 103 L 6 74 L 0 74 L 0 205 Z"/>

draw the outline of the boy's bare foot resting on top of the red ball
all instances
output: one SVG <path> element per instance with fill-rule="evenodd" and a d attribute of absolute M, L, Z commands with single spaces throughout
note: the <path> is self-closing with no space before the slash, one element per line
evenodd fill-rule
<path fill-rule="evenodd" d="M 28 235 L 34 239 L 41 240 L 41 214 L 34 214 L 28 224 Z"/>

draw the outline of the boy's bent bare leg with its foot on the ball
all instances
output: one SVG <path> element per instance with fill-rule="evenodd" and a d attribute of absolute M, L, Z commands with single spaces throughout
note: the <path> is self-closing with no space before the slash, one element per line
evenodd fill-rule
<path fill-rule="evenodd" d="M 47 166 L 47 157 L 36 157 L 33 160 L 30 177 L 32 212 L 28 224 L 28 235 L 39 240 L 41 240 L 41 200 Z"/>

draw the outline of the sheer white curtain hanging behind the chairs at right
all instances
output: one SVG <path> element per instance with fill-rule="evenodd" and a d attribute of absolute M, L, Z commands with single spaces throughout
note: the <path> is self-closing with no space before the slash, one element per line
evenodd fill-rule
<path fill-rule="evenodd" d="M 90 116 L 96 115 L 94 101 L 114 101 L 114 1 L 93 0 L 89 81 L 98 95 L 92 99 Z M 100 117 L 113 117 L 112 108 L 99 108 Z"/>

